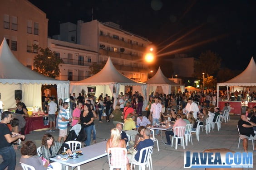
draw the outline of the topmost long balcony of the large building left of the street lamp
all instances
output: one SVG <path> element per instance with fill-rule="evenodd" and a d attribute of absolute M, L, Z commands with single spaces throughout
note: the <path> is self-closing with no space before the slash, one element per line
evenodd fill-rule
<path fill-rule="evenodd" d="M 100 35 L 99 42 L 107 42 L 107 43 L 116 45 L 118 47 L 129 48 L 129 49 L 133 49 L 133 50 L 137 50 L 137 51 L 141 51 L 141 52 L 145 51 L 145 47 L 143 47 L 143 46 L 139 46 L 134 43 L 131 44 L 126 41 L 115 39 L 113 37 L 109 37 L 108 35 Z"/>

